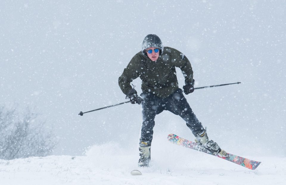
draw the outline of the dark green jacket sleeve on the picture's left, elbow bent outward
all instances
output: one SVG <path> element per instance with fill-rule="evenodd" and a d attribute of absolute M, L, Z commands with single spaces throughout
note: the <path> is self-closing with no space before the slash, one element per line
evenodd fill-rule
<path fill-rule="evenodd" d="M 121 88 L 124 94 L 128 94 L 128 91 L 132 89 L 130 83 L 133 79 L 136 79 L 140 75 L 141 66 L 136 56 L 134 56 L 127 67 L 124 69 L 122 75 L 118 79 L 119 87 Z"/>

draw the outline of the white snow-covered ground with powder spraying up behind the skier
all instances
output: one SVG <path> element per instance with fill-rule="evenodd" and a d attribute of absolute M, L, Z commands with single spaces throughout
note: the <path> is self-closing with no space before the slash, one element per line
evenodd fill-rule
<path fill-rule="evenodd" d="M 135 147 L 107 143 L 91 147 L 85 156 L 0 160 L 0 184 L 286 184 L 286 158 L 243 156 L 262 161 L 250 170 L 166 142 L 153 147 L 151 156 L 151 167 L 139 169 Z M 130 175 L 133 169 L 142 175 Z"/>

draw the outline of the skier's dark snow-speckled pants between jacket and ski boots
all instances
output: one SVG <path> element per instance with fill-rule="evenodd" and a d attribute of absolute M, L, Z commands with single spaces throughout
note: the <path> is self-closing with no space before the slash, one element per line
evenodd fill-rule
<path fill-rule="evenodd" d="M 141 97 L 144 101 L 142 102 L 143 123 L 139 143 L 140 146 L 151 146 L 155 116 L 164 110 L 181 116 L 194 135 L 198 135 L 204 131 L 202 124 L 186 101 L 182 89 L 178 88 L 167 98 L 159 98 L 152 93 L 142 93 Z"/>

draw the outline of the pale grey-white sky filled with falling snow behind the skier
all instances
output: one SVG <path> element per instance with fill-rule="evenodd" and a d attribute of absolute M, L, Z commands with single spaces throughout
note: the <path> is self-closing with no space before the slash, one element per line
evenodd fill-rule
<path fill-rule="evenodd" d="M 41 114 L 59 137 L 57 155 L 136 145 L 141 106 L 77 114 L 126 101 L 118 77 L 154 33 L 188 57 L 196 87 L 242 82 L 186 95 L 211 139 L 285 155 L 285 9 L 285 1 L 1 1 L 0 104 Z M 194 139 L 170 112 L 155 122 L 154 134 Z"/>

